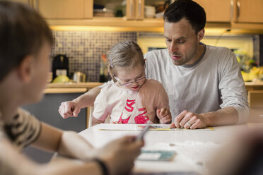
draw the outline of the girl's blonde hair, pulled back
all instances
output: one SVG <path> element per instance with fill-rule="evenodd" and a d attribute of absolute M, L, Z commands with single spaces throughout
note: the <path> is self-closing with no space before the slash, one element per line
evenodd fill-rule
<path fill-rule="evenodd" d="M 125 40 L 115 44 L 109 52 L 107 52 L 108 71 L 112 80 L 115 82 L 116 68 L 126 68 L 136 66 L 137 64 L 145 65 L 144 54 L 136 42 Z"/>

